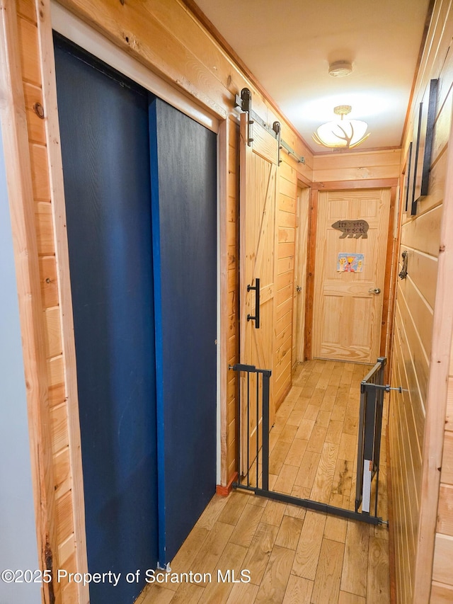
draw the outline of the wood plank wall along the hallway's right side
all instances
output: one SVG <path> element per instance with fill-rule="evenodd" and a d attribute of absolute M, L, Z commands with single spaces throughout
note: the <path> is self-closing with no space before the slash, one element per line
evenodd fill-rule
<path fill-rule="evenodd" d="M 442 408 L 442 396 L 440 392 L 437 392 L 437 397 L 435 395 L 436 378 L 433 370 L 437 370 L 437 367 L 433 365 L 440 363 L 440 360 L 432 363 L 432 351 L 437 345 L 432 336 L 447 150 L 452 124 L 452 34 L 451 2 L 438 0 L 435 2 L 420 62 L 400 169 L 403 171 L 408 145 L 413 140 L 413 122 L 418 115 L 419 103 L 423 97 L 427 102 L 430 79 L 439 78 L 429 192 L 418 203 L 415 217 L 410 215 L 410 210 L 403 212 L 399 258 L 403 250 L 408 251 L 408 277 L 405 280 L 398 279 L 396 292 L 391 381 L 393 385 L 403 387 L 403 394 L 392 392 L 391 395 L 389 442 L 394 505 L 396 601 L 404 604 L 453 601 L 453 474 L 452 458 L 448 458 L 453 449 L 452 424 L 448 421 L 432 574 L 436 583 L 433 584 L 430 596 L 432 542 L 439 495 L 438 478 L 437 487 L 433 486 L 438 470 L 432 467 L 439 439 L 437 444 L 434 443 L 432 435 L 436 429 L 443 431 L 445 422 L 445 414 L 443 418 L 435 419 L 437 410 Z M 450 399 L 453 392 L 451 387 L 452 382 Z"/>

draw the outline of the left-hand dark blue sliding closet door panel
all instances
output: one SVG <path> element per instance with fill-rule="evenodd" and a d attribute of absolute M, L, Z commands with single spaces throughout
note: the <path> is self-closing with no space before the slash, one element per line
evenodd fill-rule
<path fill-rule="evenodd" d="M 91 602 L 128 604 L 158 559 L 149 97 L 59 38 L 55 59 L 88 571 L 121 574 Z"/>

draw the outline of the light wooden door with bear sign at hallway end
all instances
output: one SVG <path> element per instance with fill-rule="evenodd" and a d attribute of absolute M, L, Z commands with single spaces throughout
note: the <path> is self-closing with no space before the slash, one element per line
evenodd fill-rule
<path fill-rule="evenodd" d="M 389 189 L 319 193 L 314 357 L 379 356 L 389 208 Z"/>

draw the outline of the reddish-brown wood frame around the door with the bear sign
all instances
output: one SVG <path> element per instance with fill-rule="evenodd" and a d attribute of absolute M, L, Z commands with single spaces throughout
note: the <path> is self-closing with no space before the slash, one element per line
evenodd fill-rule
<path fill-rule="evenodd" d="M 390 189 L 389 228 L 387 232 L 386 263 L 382 304 L 381 336 L 379 355 L 385 356 L 389 349 L 390 336 L 393 332 L 393 302 L 391 297 L 392 283 L 396 281 L 394 269 L 394 248 L 398 238 L 394 229 L 396 194 L 398 178 L 380 178 L 369 181 L 332 181 L 330 183 L 313 183 L 311 185 L 311 203 L 309 207 L 309 234 L 308 234 L 308 265 L 306 269 L 306 301 L 305 301 L 305 355 L 304 360 L 313 358 L 313 319 L 314 319 L 314 279 L 316 262 L 316 227 L 318 218 L 319 191 L 340 191 L 352 189 Z M 399 227 L 398 227 L 399 228 Z M 393 268 L 393 271 L 392 271 Z"/>

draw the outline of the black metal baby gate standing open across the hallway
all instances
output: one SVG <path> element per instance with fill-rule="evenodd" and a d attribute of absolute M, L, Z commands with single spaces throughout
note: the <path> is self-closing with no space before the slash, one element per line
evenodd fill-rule
<path fill-rule="evenodd" d="M 229 368 L 239 372 L 242 382 L 239 388 L 236 409 L 236 417 L 238 418 L 236 459 L 239 463 L 239 478 L 237 482 L 234 482 L 234 488 L 246 489 L 253 491 L 258 496 L 292 503 L 296 506 L 342 516 L 343 518 L 362 520 L 362 522 L 373 525 L 386 524 L 386 521 L 377 515 L 382 409 L 384 392 L 389 392 L 391 389 L 388 385 L 383 384 L 385 365 L 386 358 L 378 358 L 376 365 L 360 384 L 355 510 L 338 508 L 328 503 L 295 497 L 269 489 L 269 393 L 271 372 L 270 370 L 257 369 L 254 365 L 231 365 Z M 398 388 L 398 390 L 401 392 L 401 388 Z M 246 423 L 246 430 L 241 431 L 241 423 Z M 246 437 L 244 437 L 245 433 Z M 374 515 L 370 513 L 373 484 Z"/>

